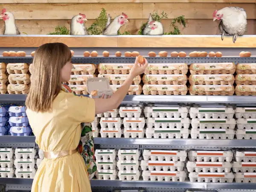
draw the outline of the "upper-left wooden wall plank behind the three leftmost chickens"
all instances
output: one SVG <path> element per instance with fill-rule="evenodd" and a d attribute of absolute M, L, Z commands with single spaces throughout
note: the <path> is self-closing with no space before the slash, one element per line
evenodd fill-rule
<path fill-rule="evenodd" d="M 23 4 L 0 4 L 14 14 L 16 20 L 58 20 L 71 19 L 74 15 L 84 13 L 87 19 L 95 19 L 99 16 L 101 9 L 105 8 L 112 18 L 128 15 L 128 19 L 142 18 L 141 3 L 23 3 Z"/>

